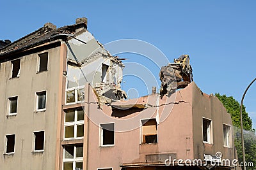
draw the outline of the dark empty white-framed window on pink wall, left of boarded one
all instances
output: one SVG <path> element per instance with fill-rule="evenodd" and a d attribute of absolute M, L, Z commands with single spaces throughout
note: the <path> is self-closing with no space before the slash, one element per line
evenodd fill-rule
<path fill-rule="evenodd" d="M 100 146 L 114 145 L 115 124 L 100 124 Z"/>

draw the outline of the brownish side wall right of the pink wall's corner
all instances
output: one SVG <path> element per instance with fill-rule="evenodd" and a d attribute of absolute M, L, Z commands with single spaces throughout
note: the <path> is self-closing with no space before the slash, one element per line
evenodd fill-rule
<path fill-rule="evenodd" d="M 212 143 L 203 143 L 202 125 L 203 117 L 212 120 Z M 224 147 L 223 124 L 231 126 L 232 146 Z M 215 155 L 216 152 L 223 154 L 222 159 L 234 159 L 234 136 L 232 120 L 223 104 L 213 95 L 204 94 L 193 82 L 193 141 L 195 159 L 204 160 L 204 154 Z"/>

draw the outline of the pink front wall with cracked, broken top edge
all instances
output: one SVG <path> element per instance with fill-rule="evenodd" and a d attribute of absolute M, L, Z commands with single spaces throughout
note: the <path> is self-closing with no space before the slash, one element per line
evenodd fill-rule
<path fill-rule="evenodd" d="M 91 89 L 90 94 L 93 94 Z M 103 167 L 113 167 L 121 169 L 122 164 L 132 164 L 136 162 L 146 162 L 146 155 L 150 154 L 173 154 L 177 159 L 193 159 L 193 130 L 192 130 L 192 87 L 179 90 L 173 94 L 176 96 L 175 104 L 169 102 L 167 97 L 159 101 L 159 120 L 161 115 L 170 115 L 157 125 L 158 143 L 140 144 L 141 129 L 131 129 L 131 131 L 118 132 L 118 126 L 140 125 L 141 118 L 150 118 L 157 115 L 156 107 L 149 107 L 141 112 L 133 113 L 122 118 L 111 118 L 111 106 L 104 106 L 103 112 L 97 106 L 95 95 L 90 98 L 90 121 L 88 124 L 88 169 Z M 88 96 L 87 96 L 88 97 Z M 141 97 L 136 103 L 148 101 L 148 105 L 155 105 L 159 97 L 157 94 Z M 167 101 L 167 102 L 166 102 Z M 129 104 L 129 101 L 125 102 Z M 145 103 L 145 102 L 144 102 Z M 165 104 L 164 104 L 165 103 Z M 173 109 L 170 109 L 172 108 Z M 152 114 L 153 113 L 153 114 Z M 129 122 L 131 118 L 134 118 Z M 118 122 L 118 120 L 124 120 Z M 115 122 L 115 145 L 100 146 L 100 124 Z"/>

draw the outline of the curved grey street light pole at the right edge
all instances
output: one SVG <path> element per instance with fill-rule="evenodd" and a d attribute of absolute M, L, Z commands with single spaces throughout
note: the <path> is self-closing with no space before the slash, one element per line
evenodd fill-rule
<path fill-rule="evenodd" d="M 243 114 L 242 114 L 242 108 L 243 108 L 243 101 L 244 101 L 244 96 L 246 94 L 246 92 L 248 91 L 248 89 L 250 88 L 250 86 L 252 85 L 252 83 L 256 80 L 256 78 L 250 83 L 250 85 L 248 85 L 248 87 L 246 88 L 246 90 L 244 91 L 242 100 L 241 100 L 241 104 L 240 104 L 240 122 L 241 122 L 241 138 L 242 138 L 242 150 L 243 150 L 243 164 L 245 163 L 245 152 L 244 152 L 244 131 L 243 131 Z M 246 166 L 243 165 L 243 169 L 246 170 Z"/>

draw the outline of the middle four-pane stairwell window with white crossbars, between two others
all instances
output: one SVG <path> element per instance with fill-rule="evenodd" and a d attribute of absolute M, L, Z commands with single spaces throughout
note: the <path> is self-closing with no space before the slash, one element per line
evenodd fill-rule
<path fill-rule="evenodd" d="M 64 138 L 83 138 L 84 136 L 84 110 L 79 108 L 77 110 L 65 111 L 65 132 Z"/>

